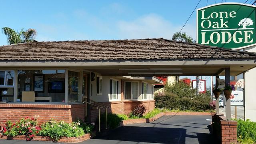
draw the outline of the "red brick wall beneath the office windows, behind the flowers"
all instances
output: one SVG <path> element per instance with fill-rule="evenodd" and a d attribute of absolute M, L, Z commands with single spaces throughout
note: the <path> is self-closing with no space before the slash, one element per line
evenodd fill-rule
<path fill-rule="evenodd" d="M 0 126 L 4 121 L 16 122 L 20 118 L 33 118 L 39 115 L 38 124 L 47 122 L 52 118 L 57 121 L 71 123 L 77 118 L 84 120 L 85 104 L 0 104 Z"/>

